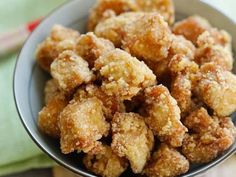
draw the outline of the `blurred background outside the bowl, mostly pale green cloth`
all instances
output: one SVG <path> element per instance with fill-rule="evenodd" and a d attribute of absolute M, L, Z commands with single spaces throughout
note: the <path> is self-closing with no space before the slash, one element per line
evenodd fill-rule
<path fill-rule="evenodd" d="M 236 22 L 235 0 L 204 1 L 220 9 Z M 19 38 L 7 37 L 0 40 L 0 176 L 75 176 L 62 168 L 54 167 L 56 164 L 29 138 L 16 112 L 12 91 L 14 65 L 25 37 L 37 25 L 37 19 L 64 2 L 66 0 L 0 0 L 0 39 L 6 32 L 16 29 L 18 32 L 23 31 Z M 33 23 L 28 24 L 32 21 Z M 18 46 L 14 46 L 16 41 Z M 14 50 L 6 52 L 8 45 L 13 45 Z M 236 176 L 235 167 L 234 155 L 222 165 L 210 170 L 204 177 L 233 177 Z"/>

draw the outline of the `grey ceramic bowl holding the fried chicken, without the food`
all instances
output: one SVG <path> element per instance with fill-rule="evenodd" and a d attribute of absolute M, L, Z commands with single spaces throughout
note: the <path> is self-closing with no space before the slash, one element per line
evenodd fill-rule
<path fill-rule="evenodd" d="M 86 20 L 90 7 L 96 0 L 72 0 L 63 4 L 46 17 L 35 29 L 23 46 L 14 71 L 14 98 L 21 121 L 33 141 L 52 159 L 69 170 L 86 177 L 95 177 L 88 172 L 81 162 L 81 155 L 73 153 L 64 155 L 60 152 L 59 142 L 40 133 L 37 127 L 37 114 L 43 106 L 43 89 L 49 75 L 43 72 L 35 61 L 35 48 L 48 35 L 55 23 L 85 32 Z M 213 26 L 227 30 L 233 38 L 233 49 L 236 51 L 236 28 L 233 21 L 213 7 L 199 0 L 174 0 L 176 18 L 199 14 L 207 18 Z M 234 72 L 236 67 L 234 67 Z M 236 114 L 232 115 L 234 123 Z M 192 165 L 190 170 L 182 175 L 190 177 L 201 174 L 224 161 L 236 151 L 236 143 L 214 161 Z M 130 172 L 122 176 L 131 176 Z"/>

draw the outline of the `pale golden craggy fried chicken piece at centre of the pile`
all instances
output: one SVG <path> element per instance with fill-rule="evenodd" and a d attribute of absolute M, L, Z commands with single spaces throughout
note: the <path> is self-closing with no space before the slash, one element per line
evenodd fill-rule
<path fill-rule="evenodd" d="M 120 49 L 107 52 L 97 59 L 95 69 L 102 76 L 103 91 L 124 100 L 130 100 L 141 89 L 156 84 L 155 75 L 144 62 Z"/>

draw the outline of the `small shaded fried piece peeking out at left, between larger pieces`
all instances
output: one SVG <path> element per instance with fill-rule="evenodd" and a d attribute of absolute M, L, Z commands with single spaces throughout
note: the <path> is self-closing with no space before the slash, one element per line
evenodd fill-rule
<path fill-rule="evenodd" d="M 44 102 L 47 104 L 55 95 L 61 91 L 55 79 L 50 79 L 46 82 L 44 87 Z"/>

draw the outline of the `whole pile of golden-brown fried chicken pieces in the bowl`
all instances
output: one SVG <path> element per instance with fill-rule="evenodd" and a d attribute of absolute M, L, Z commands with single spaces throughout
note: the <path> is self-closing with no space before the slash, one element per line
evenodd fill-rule
<path fill-rule="evenodd" d="M 236 130 L 231 37 L 171 0 L 98 0 L 88 33 L 53 26 L 36 51 L 50 79 L 38 125 L 64 154 L 118 177 L 174 177 L 228 149 Z"/>

